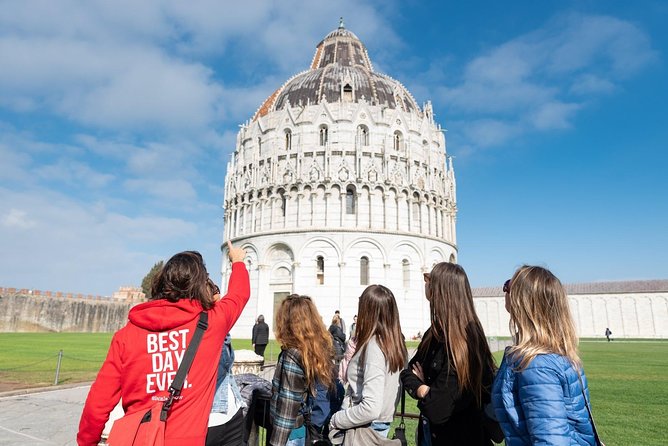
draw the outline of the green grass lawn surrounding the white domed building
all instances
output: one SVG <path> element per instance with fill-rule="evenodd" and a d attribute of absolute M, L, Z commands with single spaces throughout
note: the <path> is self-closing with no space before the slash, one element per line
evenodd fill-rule
<path fill-rule="evenodd" d="M 59 350 L 59 384 L 91 381 L 110 340 L 111 334 L 99 333 L 0 333 L 0 389 L 52 385 Z M 237 339 L 234 347 L 250 349 L 250 340 Z M 275 343 L 267 346 L 267 362 L 275 360 L 278 351 Z M 605 444 L 667 444 L 663 423 L 668 418 L 668 341 L 582 341 L 580 351 Z M 408 398 L 406 403 L 407 412 L 417 413 L 415 401 Z M 409 437 L 415 427 L 416 421 L 407 420 Z"/>

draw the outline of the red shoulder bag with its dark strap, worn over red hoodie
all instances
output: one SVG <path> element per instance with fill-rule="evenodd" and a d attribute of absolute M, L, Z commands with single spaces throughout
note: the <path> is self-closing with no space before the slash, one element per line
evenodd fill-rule
<path fill-rule="evenodd" d="M 139 410 L 114 421 L 107 439 L 108 446 L 162 446 L 165 444 L 165 424 L 174 398 L 181 394 L 190 365 L 195 358 L 204 331 L 209 326 L 209 315 L 201 312 L 197 329 L 169 386 L 169 396 L 149 409 Z"/>

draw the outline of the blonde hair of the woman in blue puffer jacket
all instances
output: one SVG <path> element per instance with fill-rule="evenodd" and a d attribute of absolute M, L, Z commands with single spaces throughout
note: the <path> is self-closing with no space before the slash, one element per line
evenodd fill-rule
<path fill-rule="evenodd" d="M 537 355 L 556 353 L 581 365 L 578 337 L 563 285 L 549 270 L 524 265 L 510 279 L 510 331 L 515 344 L 510 354 L 525 369 Z"/>

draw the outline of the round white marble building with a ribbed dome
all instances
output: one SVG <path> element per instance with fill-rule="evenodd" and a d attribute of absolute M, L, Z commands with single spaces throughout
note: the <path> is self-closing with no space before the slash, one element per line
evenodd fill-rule
<path fill-rule="evenodd" d="M 422 273 L 457 259 L 455 175 L 431 103 L 375 72 L 342 22 L 241 126 L 224 208 L 224 238 L 246 249 L 251 279 L 236 337 L 259 314 L 271 326 L 291 293 L 349 326 L 373 283 L 394 292 L 412 337 L 429 325 Z"/>

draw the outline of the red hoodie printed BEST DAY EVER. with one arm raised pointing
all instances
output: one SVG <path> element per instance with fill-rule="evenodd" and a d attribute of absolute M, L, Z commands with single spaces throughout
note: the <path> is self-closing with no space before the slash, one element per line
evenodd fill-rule
<path fill-rule="evenodd" d="M 246 265 L 236 262 L 227 294 L 209 310 L 209 328 L 197 349 L 181 397 L 169 412 L 166 445 L 204 444 L 225 335 L 249 297 Z M 132 413 L 166 398 L 201 312 L 201 304 L 190 299 L 152 300 L 130 310 L 129 322 L 114 334 L 107 359 L 86 398 L 77 434 L 80 446 L 97 445 L 119 399 L 122 398 L 125 413 Z"/>

